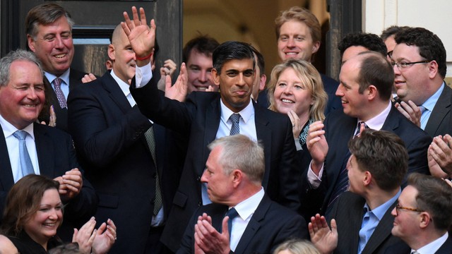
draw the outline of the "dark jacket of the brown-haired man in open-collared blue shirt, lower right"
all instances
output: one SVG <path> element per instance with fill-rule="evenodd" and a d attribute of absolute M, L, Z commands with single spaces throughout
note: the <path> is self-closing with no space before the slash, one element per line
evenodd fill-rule
<path fill-rule="evenodd" d="M 328 222 L 335 219 L 338 224 L 338 247 L 334 253 L 358 253 L 359 230 L 361 229 L 362 218 L 364 217 L 364 204 L 366 200 L 361 196 L 346 191 L 335 202 Z M 394 202 L 383 215 L 374 233 L 369 238 L 362 254 L 384 253 L 388 246 L 396 243 L 404 243 L 400 238 L 391 234 L 394 217 L 391 211 L 396 206 Z"/>

